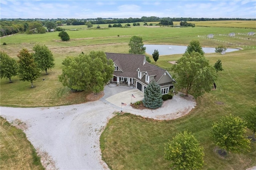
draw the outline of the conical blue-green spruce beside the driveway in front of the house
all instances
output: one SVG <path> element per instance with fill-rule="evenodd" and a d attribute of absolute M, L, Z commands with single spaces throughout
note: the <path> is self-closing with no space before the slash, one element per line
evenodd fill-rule
<path fill-rule="evenodd" d="M 150 109 L 157 109 L 163 104 L 162 93 L 160 85 L 154 79 L 150 81 L 148 87 L 144 91 L 144 99 L 142 103 L 145 107 Z"/>

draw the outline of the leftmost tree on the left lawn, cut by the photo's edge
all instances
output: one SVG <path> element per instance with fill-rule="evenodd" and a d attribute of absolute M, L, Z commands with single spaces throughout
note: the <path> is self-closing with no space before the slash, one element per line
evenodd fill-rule
<path fill-rule="evenodd" d="M 18 65 L 14 58 L 11 58 L 6 52 L 0 51 L 0 75 L 1 79 L 8 78 L 12 83 L 12 76 L 17 75 Z"/>

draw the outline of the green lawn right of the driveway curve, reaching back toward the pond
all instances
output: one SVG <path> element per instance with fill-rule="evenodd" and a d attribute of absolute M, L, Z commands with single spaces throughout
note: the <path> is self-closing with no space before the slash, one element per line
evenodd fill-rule
<path fill-rule="evenodd" d="M 112 169 L 168 169 L 169 162 L 163 157 L 164 143 L 172 139 L 176 132 L 188 129 L 204 146 L 204 169 L 241 170 L 256 165 L 255 142 L 250 152 L 230 154 L 229 158 L 222 159 L 214 153 L 215 146 L 210 138 L 213 121 L 230 113 L 242 117 L 245 111 L 256 104 L 255 56 L 255 49 L 226 55 L 206 54 L 211 64 L 222 60 L 224 71 L 219 73 L 217 89 L 199 97 L 195 109 L 180 119 L 156 121 L 128 113 L 110 119 L 100 137 L 103 159 Z M 167 62 L 179 57 L 163 57 L 160 60 Z M 222 102 L 223 105 L 216 102 Z M 252 132 L 248 130 L 247 135 L 252 135 Z"/>

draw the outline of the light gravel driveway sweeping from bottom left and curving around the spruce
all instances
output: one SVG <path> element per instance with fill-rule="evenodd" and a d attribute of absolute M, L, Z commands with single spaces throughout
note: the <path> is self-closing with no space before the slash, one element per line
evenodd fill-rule
<path fill-rule="evenodd" d="M 123 94 L 123 91 L 131 89 L 116 90 Z M 110 103 L 111 100 L 106 101 L 114 95 L 114 89 L 105 87 L 104 92 L 107 96 L 99 101 L 79 105 L 0 107 L 0 112 L 10 123 L 22 122 L 18 126 L 38 150 L 46 169 L 108 169 L 101 160 L 99 138 L 108 120 L 114 117 L 113 112 L 120 111 L 120 107 Z M 195 105 L 194 101 L 174 96 L 172 100 L 165 101 L 160 109 L 136 110 L 127 105 L 122 110 L 154 119 L 175 119 L 188 113 Z"/>

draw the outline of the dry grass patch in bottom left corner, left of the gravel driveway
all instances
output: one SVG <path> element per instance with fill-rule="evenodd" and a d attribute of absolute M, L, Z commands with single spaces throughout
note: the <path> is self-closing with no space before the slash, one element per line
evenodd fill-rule
<path fill-rule="evenodd" d="M 18 122 L 17 122 L 18 123 Z M 0 169 L 1 170 L 44 170 L 35 148 L 26 134 L 0 117 Z"/>

